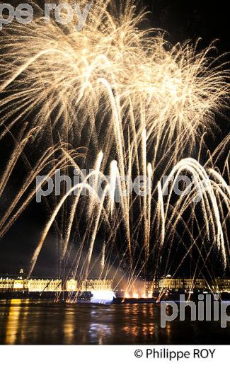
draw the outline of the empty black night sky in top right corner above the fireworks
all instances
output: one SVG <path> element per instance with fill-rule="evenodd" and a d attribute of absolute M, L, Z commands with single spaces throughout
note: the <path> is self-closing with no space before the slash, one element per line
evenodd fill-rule
<path fill-rule="evenodd" d="M 227 1 L 144 0 L 144 4 L 151 11 L 151 25 L 166 30 L 173 43 L 202 38 L 207 46 L 219 39 L 219 51 L 229 52 Z"/>

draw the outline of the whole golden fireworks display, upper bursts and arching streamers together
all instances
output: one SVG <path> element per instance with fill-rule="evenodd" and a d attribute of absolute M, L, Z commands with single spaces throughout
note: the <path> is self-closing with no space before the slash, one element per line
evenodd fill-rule
<path fill-rule="evenodd" d="M 86 1 L 79 4 L 84 8 Z M 119 269 L 131 285 L 149 268 L 152 277 L 167 275 L 176 243 L 184 253 L 175 272 L 185 258 L 198 264 L 194 251 L 202 261 L 199 272 L 206 269 L 212 274 L 212 251 L 221 255 L 226 269 L 230 136 L 212 154 L 204 138 L 214 134 L 217 113 L 229 100 L 229 71 L 209 56 L 214 45 L 198 52 L 197 44 L 173 46 L 163 32 L 141 30 L 138 26 L 146 15 L 137 14 L 132 0 L 119 6 L 113 1 L 93 1 L 81 32 L 74 21 L 62 26 L 54 19 L 44 23 L 42 9 L 36 8 L 33 23 L 12 23 L 3 31 L 0 124 L 7 130 L 1 137 L 28 120 L 38 144 L 48 140 L 54 147 L 61 141 L 84 146 L 86 153 L 79 159 L 63 148 L 59 166 L 55 160 L 52 164 L 48 175 L 53 176 L 58 167 L 64 173 L 75 169 L 82 182 L 52 203 L 29 273 L 54 222 L 61 239 L 61 267 L 70 260 L 71 270 L 81 280 L 97 264 L 93 252 L 99 254 L 103 277 L 111 272 L 117 277 Z M 12 165 L 23 151 L 23 142 Z M 221 157 L 224 164 L 219 165 Z M 84 176 L 83 169 L 90 166 L 93 171 Z M 31 174 L 33 180 L 36 172 Z M 175 198 L 173 185 L 185 173 L 192 182 Z M 1 185 L 6 176 L 7 169 Z M 145 195 L 122 195 L 127 190 L 124 176 L 142 176 Z M 98 196 L 102 178 L 105 185 Z M 21 192 L 26 187 L 25 183 Z M 84 200 L 82 191 L 88 193 Z M 1 236 L 29 202 L 7 222 L 17 201 L 16 197 L 1 219 Z M 101 252 L 98 238 L 103 238 Z"/>

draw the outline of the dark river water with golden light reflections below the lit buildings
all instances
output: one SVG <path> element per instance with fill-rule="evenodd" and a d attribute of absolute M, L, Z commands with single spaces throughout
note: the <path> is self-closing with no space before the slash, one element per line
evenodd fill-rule
<path fill-rule="evenodd" d="M 230 326 L 173 321 L 160 326 L 156 304 L 54 304 L 0 301 L 1 344 L 229 343 Z"/>

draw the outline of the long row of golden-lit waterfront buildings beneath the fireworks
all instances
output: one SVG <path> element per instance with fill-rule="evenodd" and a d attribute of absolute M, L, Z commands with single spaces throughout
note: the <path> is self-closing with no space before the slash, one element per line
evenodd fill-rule
<path fill-rule="evenodd" d="M 0 293 L 79 293 L 79 292 L 115 292 L 124 297 L 149 297 L 161 292 L 212 292 L 230 293 L 230 279 L 216 278 L 207 282 L 204 278 L 173 278 L 162 277 L 159 280 L 138 280 L 138 287 L 133 284 L 132 289 L 114 289 L 113 280 L 75 280 L 69 278 L 61 280 L 52 277 L 26 277 L 23 269 L 18 275 L 0 275 Z"/>

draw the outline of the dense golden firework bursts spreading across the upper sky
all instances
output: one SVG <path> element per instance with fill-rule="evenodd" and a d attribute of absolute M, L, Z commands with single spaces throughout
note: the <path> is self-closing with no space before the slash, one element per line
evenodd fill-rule
<path fill-rule="evenodd" d="M 74 32 L 71 23 L 63 30 L 54 21 L 44 25 L 41 18 L 26 27 L 14 24 L 6 28 L 3 40 L 7 47 L 3 46 L 6 51 L 0 64 L 4 70 L 1 91 L 7 88 L 11 91 L 13 81 L 16 86 L 11 96 L 1 100 L 2 111 L 8 103 L 20 108 L 25 100 L 28 111 L 38 105 L 41 107 L 35 123 L 46 124 L 50 113 L 57 110 L 59 113 L 56 112 L 53 120 L 55 127 L 67 110 L 68 121 L 64 121 L 64 126 L 74 130 L 77 122 L 81 132 L 88 114 L 86 111 L 81 120 L 77 115 L 82 108 L 87 110 L 86 101 L 96 112 L 100 110 L 101 94 L 110 100 L 110 95 L 106 97 L 103 86 L 98 84 L 104 80 L 108 88 L 115 91 L 115 99 L 122 101 L 118 116 L 122 116 L 122 110 L 130 106 L 131 100 L 136 129 L 147 129 L 149 143 L 157 138 L 161 142 L 166 137 L 163 148 L 166 149 L 176 133 L 183 134 L 184 144 L 190 140 L 192 146 L 199 127 L 212 128 L 213 113 L 224 103 L 228 73 L 223 71 L 222 65 L 209 68 L 213 62 L 207 57 L 209 50 L 196 54 L 192 45 L 185 43 L 166 51 L 166 41 L 161 35 L 150 38 L 146 31 L 137 31 L 134 26 L 142 20 L 143 14 L 134 16 L 131 5 L 132 11 L 128 11 L 124 23 L 122 14 L 117 20 L 106 8 L 101 14 L 103 1 L 99 3 L 92 6 L 91 18 L 81 33 Z M 98 23 L 99 18 L 101 23 Z M 11 27 L 13 37 L 9 32 Z M 8 63 L 12 56 L 19 67 Z M 22 80 L 17 79 L 20 75 Z M 67 96 L 66 103 L 64 96 Z M 51 111 L 47 111 L 47 100 Z M 139 117 L 141 107 L 144 119 Z M 118 103 L 116 108 L 119 108 Z M 24 108 L 24 115 L 26 112 Z M 122 144 L 119 130 L 117 134 Z"/>

